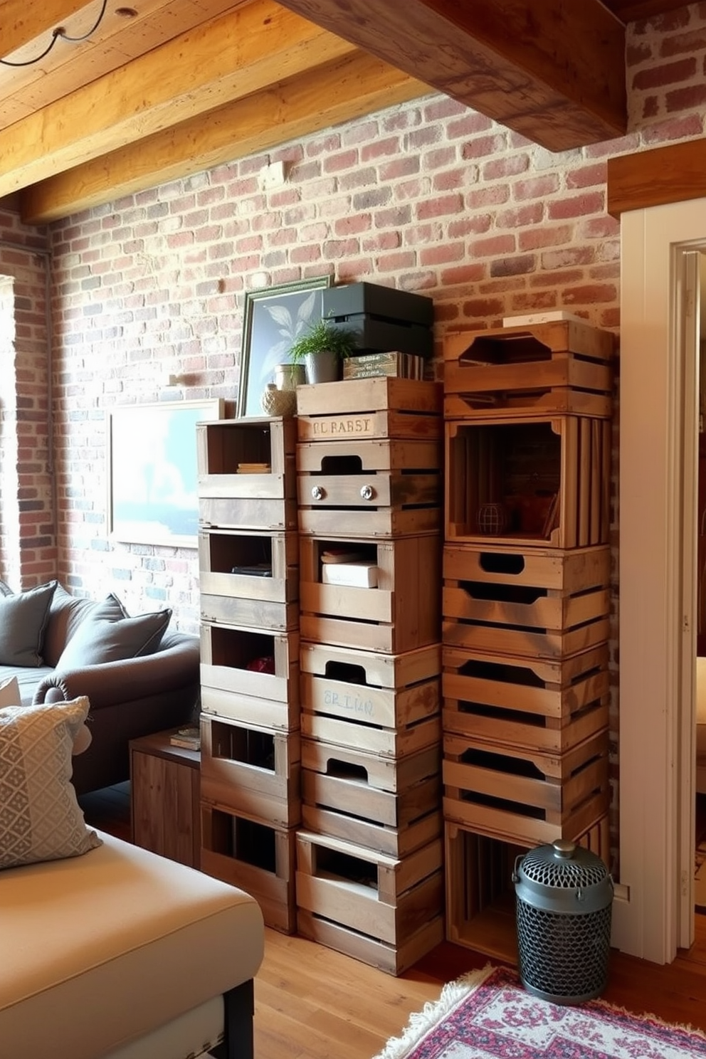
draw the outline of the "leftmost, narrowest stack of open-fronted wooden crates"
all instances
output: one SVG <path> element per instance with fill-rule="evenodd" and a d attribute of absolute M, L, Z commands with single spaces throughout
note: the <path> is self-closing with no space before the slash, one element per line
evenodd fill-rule
<path fill-rule="evenodd" d="M 200 424 L 201 868 L 296 927 L 296 426 Z"/>

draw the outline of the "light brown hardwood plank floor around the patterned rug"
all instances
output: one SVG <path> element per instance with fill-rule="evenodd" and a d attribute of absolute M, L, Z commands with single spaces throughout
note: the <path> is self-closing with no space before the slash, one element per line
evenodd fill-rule
<path fill-rule="evenodd" d="M 87 821 L 129 840 L 129 787 L 80 800 Z M 603 999 L 636 1013 L 706 1031 L 706 915 L 696 940 L 667 967 L 611 954 Z M 446 982 L 484 967 L 485 955 L 443 943 L 399 977 L 302 937 L 266 931 L 255 982 L 257 1059 L 372 1059 Z"/>

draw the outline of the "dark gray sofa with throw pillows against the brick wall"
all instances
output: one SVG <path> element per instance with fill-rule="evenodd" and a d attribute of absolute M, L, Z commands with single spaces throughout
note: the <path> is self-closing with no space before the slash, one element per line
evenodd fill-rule
<path fill-rule="evenodd" d="M 0 581 L 0 682 L 15 676 L 23 704 L 90 701 L 78 794 L 129 778 L 130 739 L 196 716 L 199 640 L 168 631 L 170 617 L 131 617 L 114 595 L 77 598 L 57 581 L 19 593 Z"/>

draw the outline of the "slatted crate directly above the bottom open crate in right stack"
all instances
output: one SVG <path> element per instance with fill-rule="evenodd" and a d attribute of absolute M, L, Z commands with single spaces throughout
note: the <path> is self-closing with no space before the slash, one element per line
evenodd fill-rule
<path fill-rule="evenodd" d="M 447 735 L 445 819 L 528 844 L 582 833 L 608 812 L 608 732 L 555 757 Z"/>

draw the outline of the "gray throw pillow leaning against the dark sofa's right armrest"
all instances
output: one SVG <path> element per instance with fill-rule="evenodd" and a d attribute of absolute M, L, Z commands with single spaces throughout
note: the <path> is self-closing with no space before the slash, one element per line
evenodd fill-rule
<path fill-rule="evenodd" d="M 56 668 L 84 669 L 103 662 L 151 654 L 159 647 L 170 617 L 169 609 L 119 621 L 89 614 L 64 648 Z"/>

